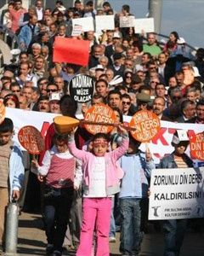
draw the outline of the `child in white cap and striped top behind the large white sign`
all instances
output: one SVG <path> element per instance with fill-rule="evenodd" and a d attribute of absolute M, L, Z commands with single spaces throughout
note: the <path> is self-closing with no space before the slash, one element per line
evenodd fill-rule
<path fill-rule="evenodd" d="M 168 168 L 188 168 L 193 167 L 193 161 L 185 154 L 189 145 L 189 138 L 186 131 L 176 131 L 173 135 L 173 153 L 161 159 L 158 166 L 160 169 Z M 179 170 L 178 170 L 179 172 Z M 179 255 L 180 248 L 184 241 L 187 219 L 168 219 L 164 221 L 164 256 Z"/>

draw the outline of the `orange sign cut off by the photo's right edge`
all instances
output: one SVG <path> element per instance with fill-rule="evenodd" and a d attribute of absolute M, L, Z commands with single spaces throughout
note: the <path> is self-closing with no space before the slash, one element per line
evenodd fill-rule
<path fill-rule="evenodd" d="M 204 132 L 190 137 L 190 155 L 197 160 L 204 160 Z"/>

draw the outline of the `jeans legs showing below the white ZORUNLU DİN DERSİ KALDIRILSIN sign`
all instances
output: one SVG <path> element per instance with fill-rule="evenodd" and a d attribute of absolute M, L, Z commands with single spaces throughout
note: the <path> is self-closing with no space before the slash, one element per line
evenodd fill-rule
<path fill-rule="evenodd" d="M 184 241 L 187 219 L 168 219 L 163 222 L 164 256 L 178 256 Z"/>

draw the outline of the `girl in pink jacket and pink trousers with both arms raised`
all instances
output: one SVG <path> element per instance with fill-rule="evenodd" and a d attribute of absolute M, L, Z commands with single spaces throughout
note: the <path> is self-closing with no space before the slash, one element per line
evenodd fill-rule
<path fill-rule="evenodd" d="M 77 256 L 91 255 L 95 226 L 96 255 L 109 256 L 111 195 L 119 191 L 119 179 L 123 176 L 122 169 L 116 166 L 116 160 L 128 147 L 127 131 L 119 126 L 119 132 L 122 133 L 122 145 L 108 153 L 109 139 L 105 133 L 94 135 L 92 151 L 86 152 L 76 147 L 74 132 L 71 132 L 69 148 L 71 154 L 82 160 L 83 172 L 83 218 Z"/>

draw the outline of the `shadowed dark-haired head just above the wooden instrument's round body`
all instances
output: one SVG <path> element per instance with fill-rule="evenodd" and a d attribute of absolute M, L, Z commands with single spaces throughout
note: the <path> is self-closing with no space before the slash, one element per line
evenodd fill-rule
<path fill-rule="evenodd" d="M 75 117 L 77 111 L 77 102 L 75 102 L 71 96 L 64 95 L 59 101 L 60 110 L 63 115 Z"/>

